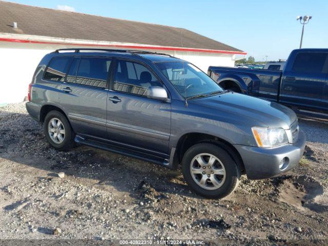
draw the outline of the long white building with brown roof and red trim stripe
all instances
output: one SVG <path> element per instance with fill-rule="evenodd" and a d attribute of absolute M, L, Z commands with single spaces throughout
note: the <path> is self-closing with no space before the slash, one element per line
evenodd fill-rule
<path fill-rule="evenodd" d="M 182 45 L 181 45 L 182 37 Z M 246 53 L 186 29 L 0 1 L 0 104 L 23 101 L 42 57 L 60 48 L 149 50 L 207 72 Z"/>

